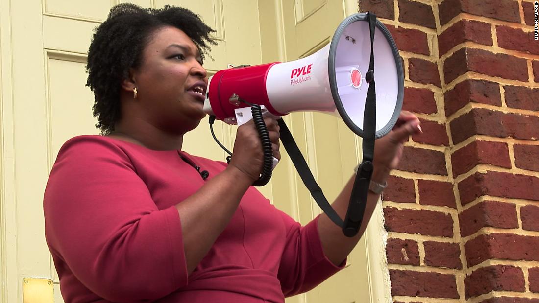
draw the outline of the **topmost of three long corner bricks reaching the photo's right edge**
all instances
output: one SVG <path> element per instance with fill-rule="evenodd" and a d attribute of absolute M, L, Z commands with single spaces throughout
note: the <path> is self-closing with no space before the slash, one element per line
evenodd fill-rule
<path fill-rule="evenodd" d="M 539 139 L 539 117 L 474 108 L 450 122 L 453 143 L 473 135 Z"/>

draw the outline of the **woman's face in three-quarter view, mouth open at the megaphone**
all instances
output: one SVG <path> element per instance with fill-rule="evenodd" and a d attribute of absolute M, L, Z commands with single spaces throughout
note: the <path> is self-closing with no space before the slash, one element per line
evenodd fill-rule
<path fill-rule="evenodd" d="M 208 77 L 197 46 L 183 31 L 157 30 L 133 73 L 141 118 L 168 133 L 185 133 L 206 115 L 202 110 Z"/>

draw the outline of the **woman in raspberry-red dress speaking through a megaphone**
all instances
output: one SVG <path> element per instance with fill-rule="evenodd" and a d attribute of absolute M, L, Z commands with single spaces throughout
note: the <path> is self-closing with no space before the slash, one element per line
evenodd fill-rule
<path fill-rule="evenodd" d="M 252 122 L 238 128 L 230 165 L 182 151 L 205 116 L 211 32 L 188 10 L 131 4 L 96 29 L 87 85 L 102 136 L 64 144 L 44 196 L 65 301 L 283 302 L 340 270 L 363 233 L 374 193 L 347 238 L 326 215 L 301 227 L 250 186 L 262 167 Z M 280 158 L 277 123 L 265 122 Z M 417 132 L 417 117 L 402 114 L 377 141 L 373 180 L 385 181 Z M 341 217 L 352 182 L 333 203 Z"/>

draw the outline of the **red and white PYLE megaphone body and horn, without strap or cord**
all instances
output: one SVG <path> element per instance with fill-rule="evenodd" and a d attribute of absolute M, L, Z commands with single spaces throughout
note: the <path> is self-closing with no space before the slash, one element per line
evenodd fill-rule
<path fill-rule="evenodd" d="M 306 58 L 217 72 L 209 81 L 204 111 L 229 124 L 237 124 L 236 110 L 250 106 L 231 98 L 236 95 L 264 105 L 275 116 L 294 111 L 333 114 L 342 118 L 358 136 L 363 136 L 370 48 L 368 14 L 357 13 L 343 20 L 331 43 Z M 379 138 L 397 122 L 404 96 L 400 56 L 391 34 L 379 21 L 374 53 L 374 78 L 378 84 L 376 138 Z"/>

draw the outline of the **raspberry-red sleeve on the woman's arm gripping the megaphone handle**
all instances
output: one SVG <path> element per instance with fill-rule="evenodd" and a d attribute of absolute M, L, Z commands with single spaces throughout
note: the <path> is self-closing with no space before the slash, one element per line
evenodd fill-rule
<path fill-rule="evenodd" d="M 53 255 L 100 297 L 153 300 L 188 284 L 177 209 L 157 208 L 118 146 L 106 140 L 64 145 L 44 211 Z"/>

